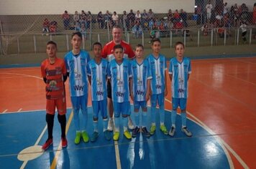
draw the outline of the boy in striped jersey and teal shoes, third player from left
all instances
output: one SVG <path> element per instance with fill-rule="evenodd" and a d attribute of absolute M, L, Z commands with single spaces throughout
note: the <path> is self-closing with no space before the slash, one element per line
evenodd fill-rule
<path fill-rule="evenodd" d="M 108 62 L 106 59 L 101 59 L 101 43 L 93 44 L 94 59 L 88 62 L 88 80 L 91 84 L 91 103 L 93 105 L 93 128 L 94 132 L 91 136 L 91 142 L 95 142 L 99 136 L 98 118 L 99 111 L 103 118 L 103 132 L 106 140 L 111 140 L 110 132 L 107 130 L 107 100 L 106 100 L 106 68 Z"/>

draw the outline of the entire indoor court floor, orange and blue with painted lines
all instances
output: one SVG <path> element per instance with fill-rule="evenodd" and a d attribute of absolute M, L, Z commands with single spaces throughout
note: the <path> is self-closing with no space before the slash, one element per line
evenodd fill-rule
<path fill-rule="evenodd" d="M 192 137 L 180 131 L 178 115 L 174 137 L 163 135 L 158 123 L 150 138 L 137 135 L 127 140 L 121 131 L 119 141 L 107 141 L 99 117 L 96 143 L 75 145 L 67 93 L 68 147 L 61 148 L 55 115 L 53 146 L 45 152 L 41 146 L 47 139 L 46 100 L 40 67 L 0 69 L 0 168 L 256 168 L 256 57 L 193 59 L 191 67 L 187 125 Z M 168 77 L 168 130 L 170 91 Z M 88 133 L 92 132 L 88 101 Z"/>

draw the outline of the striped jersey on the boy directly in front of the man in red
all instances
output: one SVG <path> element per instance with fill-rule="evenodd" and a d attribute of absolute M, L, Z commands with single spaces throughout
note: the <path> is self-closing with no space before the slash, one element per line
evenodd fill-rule
<path fill-rule="evenodd" d="M 113 102 L 129 102 L 129 77 L 132 77 L 130 63 L 123 59 L 122 64 L 111 60 L 108 67 L 108 78 L 111 79 Z"/>

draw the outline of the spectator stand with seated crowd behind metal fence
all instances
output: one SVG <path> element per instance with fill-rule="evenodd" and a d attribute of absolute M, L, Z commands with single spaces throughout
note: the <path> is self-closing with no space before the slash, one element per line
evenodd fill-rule
<path fill-rule="evenodd" d="M 109 11 L 91 14 L 81 11 L 62 15 L 0 16 L 0 54 L 45 52 L 48 40 L 58 42 L 60 52 L 70 50 L 70 34 L 83 34 L 83 49 L 93 42 L 111 40 L 111 27 L 119 24 L 124 39 L 132 45 L 160 37 L 163 47 L 183 41 L 187 47 L 255 44 L 256 14 L 246 4 L 222 4 L 219 0 L 196 0 L 195 11 L 170 9 L 163 14 L 154 11 Z M 118 17 L 117 17 L 118 16 Z M 242 36 L 242 32 L 247 34 Z M 244 40 L 246 39 L 246 40 Z"/>

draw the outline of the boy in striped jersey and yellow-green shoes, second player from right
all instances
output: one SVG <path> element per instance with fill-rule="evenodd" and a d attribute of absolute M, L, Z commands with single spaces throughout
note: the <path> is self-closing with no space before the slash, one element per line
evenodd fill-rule
<path fill-rule="evenodd" d="M 150 62 L 151 79 L 151 127 L 150 135 L 155 134 L 155 115 L 157 112 L 157 104 L 160 112 L 160 130 L 164 135 L 168 135 L 168 130 L 165 127 L 165 96 L 168 94 L 167 90 L 167 66 L 165 56 L 160 54 L 161 42 L 160 39 L 152 39 L 152 54 L 147 57 Z"/>

